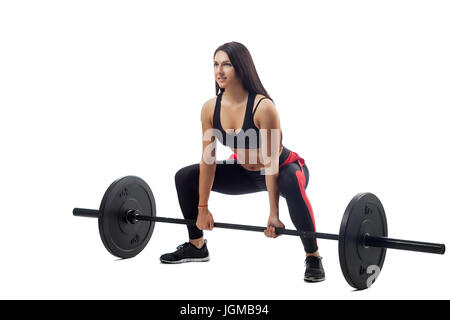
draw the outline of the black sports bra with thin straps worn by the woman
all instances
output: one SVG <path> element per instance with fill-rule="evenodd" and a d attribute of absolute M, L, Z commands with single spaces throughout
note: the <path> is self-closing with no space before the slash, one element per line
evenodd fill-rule
<path fill-rule="evenodd" d="M 249 93 L 247 99 L 247 107 L 244 115 L 244 123 L 242 124 L 242 129 L 238 132 L 227 133 L 222 127 L 220 122 L 220 106 L 222 102 L 222 92 L 217 96 L 216 107 L 214 109 L 214 117 L 213 117 L 213 128 L 215 130 L 215 137 L 222 143 L 223 145 L 236 148 L 236 149 L 258 149 L 260 147 L 260 136 L 259 129 L 253 122 L 253 116 L 255 115 L 256 109 L 259 106 L 259 103 L 268 99 L 266 97 L 261 98 L 258 101 L 258 104 L 255 107 L 255 110 L 252 112 L 253 104 L 255 102 L 256 93 Z M 220 134 L 219 134 L 220 133 Z"/>

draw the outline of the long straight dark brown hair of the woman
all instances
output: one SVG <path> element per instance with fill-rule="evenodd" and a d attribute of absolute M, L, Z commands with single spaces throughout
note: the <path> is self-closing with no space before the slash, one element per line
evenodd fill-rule
<path fill-rule="evenodd" d="M 262 94 L 272 100 L 259 79 L 252 56 L 246 46 L 235 41 L 224 43 L 214 51 L 213 58 L 217 51 L 224 51 L 228 55 L 236 74 L 242 80 L 245 90 L 249 93 Z M 216 95 L 219 94 L 219 90 L 224 91 L 216 82 Z"/>

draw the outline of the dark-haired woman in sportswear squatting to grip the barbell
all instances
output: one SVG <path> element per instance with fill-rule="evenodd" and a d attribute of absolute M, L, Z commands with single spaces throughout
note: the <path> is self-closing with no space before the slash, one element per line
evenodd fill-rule
<path fill-rule="evenodd" d="M 282 144 L 278 113 L 264 89 L 248 49 L 225 43 L 214 52 L 216 97 L 202 107 L 203 155 L 199 164 L 180 169 L 175 175 L 178 200 L 188 226 L 189 242 L 161 256 L 163 263 L 209 261 L 202 230 L 212 230 L 214 220 L 208 209 L 210 191 L 246 194 L 268 191 L 270 212 L 267 237 L 276 238 L 281 195 L 297 230 L 315 231 L 314 215 L 306 196 L 309 173 L 297 153 Z M 225 129 L 226 128 L 226 129 Z M 233 155 L 216 161 L 216 139 L 229 146 Z M 325 279 L 317 241 L 302 239 L 306 252 L 305 281 Z"/>

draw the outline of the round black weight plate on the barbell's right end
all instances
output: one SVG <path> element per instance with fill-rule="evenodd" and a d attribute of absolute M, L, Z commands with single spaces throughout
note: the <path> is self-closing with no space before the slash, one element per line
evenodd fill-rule
<path fill-rule="evenodd" d="M 379 275 L 386 248 L 364 246 L 364 236 L 387 237 L 381 201 L 372 193 L 359 193 L 345 209 L 339 230 L 339 262 L 348 284 L 367 289 Z M 369 279 L 370 278 L 370 279 Z"/>

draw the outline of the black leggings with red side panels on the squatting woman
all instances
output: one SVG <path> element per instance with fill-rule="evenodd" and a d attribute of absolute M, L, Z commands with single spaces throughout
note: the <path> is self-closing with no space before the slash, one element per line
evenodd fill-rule
<path fill-rule="evenodd" d="M 286 199 L 292 223 L 297 230 L 316 231 L 314 214 L 311 204 L 306 196 L 309 172 L 305 164 L 300 167 L 298 161 L 286 163 L 291 157 L 291 151 L 284 147 L 280 155 L 280 168 L 278 175 L 278 189 L 280 195 Z M 199 200 L 200 164 L 184 167 L 175 174 L 175 184 L 178 192 L 178 201 L 185 219 L 197 219 Z M 247 194 L 267 191 L 265 175 L 260 171 L 244 169 L 237 160 L 221 160 L 216 162 L 216 172 L 212 191 L 229 194 Z M 189 238 L 203 237 L 203 231 L 196 226 L 188 226 Z M 307 253 L 318 250 L 315 239 L 302 239 L 303 247 Z"/>

